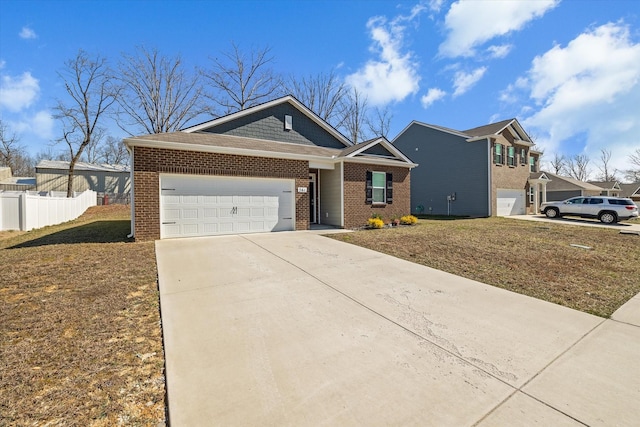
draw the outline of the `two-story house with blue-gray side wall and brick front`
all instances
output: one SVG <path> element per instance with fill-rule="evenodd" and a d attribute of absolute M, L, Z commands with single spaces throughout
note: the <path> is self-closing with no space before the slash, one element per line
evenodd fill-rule
<path fill-rule="evenodd" d="M 414 213 L 519 215 L 546 201 L 540 152 L 516 119 L 464 131 L 413 121 L 393 145 L 420 165 L 411 174 Z"/>

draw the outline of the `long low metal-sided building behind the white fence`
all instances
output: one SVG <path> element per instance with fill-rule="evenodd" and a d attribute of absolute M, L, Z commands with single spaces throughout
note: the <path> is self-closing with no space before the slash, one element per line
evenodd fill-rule
<path fill-rule="evenodd" d="M 36 166 L 38 191 L 67 191 L 69 162 L 42 160 Z M 73 191 L 93 190 L 110 202 L 128 202 L 131 173 L 128 165 L 98 165 L 78 162 L 74 167 Z"/>

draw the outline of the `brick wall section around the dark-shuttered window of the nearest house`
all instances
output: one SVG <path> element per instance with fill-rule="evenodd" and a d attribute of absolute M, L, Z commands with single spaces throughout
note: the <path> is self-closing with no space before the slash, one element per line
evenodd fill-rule
<path fill-rule="evenodd" d="M 375 206 L 366 203 L 367 171 L 393 174 L 393 203 Z M 393 218 L 409 215 L 411 211 L 411 188 L 409 169 L 393 166 L 366 165 L 360 163 L 344 164 L 344 225 L 345 228 L 358 228 L 367 224 L 371 215 L 382 216 L 385 222 Z"/>

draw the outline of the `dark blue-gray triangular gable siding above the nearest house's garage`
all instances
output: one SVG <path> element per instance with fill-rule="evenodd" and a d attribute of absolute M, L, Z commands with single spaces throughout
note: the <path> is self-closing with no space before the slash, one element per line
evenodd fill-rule
<path fill-rule="evenodd" d="M 284 129 L 285 115 L 290 115 L 293 119 L 292 130 Z M 342 142 L 288 103 L 219 124 L 207 129 L 206 132 L 294 144 L 345 148 Z"/>

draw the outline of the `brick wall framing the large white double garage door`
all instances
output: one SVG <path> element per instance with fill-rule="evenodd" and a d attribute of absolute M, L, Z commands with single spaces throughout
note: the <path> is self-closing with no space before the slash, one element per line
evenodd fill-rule
<path fill-rule="evenodd" d="M 197 151 L 135 147 L 134 197 L 136 240 L 160 238 L 160 174 L 222 175 L 295 179 L 295 188 L 309 183 L 308 162 Z M 309 227 L 309 195 L 297 193 L 296 229 Z"/>

